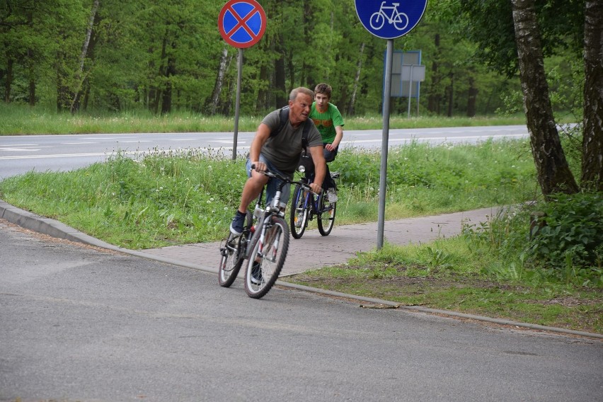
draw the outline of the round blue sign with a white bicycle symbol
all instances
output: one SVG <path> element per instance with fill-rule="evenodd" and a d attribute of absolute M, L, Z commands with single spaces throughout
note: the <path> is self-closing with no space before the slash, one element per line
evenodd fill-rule
<path fill-rule="evenodd" d="M 400 38 L 410 32 L 425 13 L 427 0 L 355 0 L 360 22 L 383 39 Z"/>

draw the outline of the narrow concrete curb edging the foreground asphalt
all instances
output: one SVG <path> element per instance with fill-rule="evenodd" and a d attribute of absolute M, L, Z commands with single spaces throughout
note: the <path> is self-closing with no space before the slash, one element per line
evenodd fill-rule
<path fill-rule="evenodd" d="M 161 255 L 152 255 L 149 253 L 144 253 L 144 251 L 136 251 L 136 250 L 130 250 L 127 248 L 113 246 L 113 244 L 105 243 L 104 241 L 98 240 L 92 236 L 88 236 L 87 234 L 84 234 L 81 231 L 77 231 L 76 229 L 73 229 L 70 226 L 67 226 L 66 224 L 62 224 L 61 222 L 59 222 L 57 220 L 40 217 L 40 215 L 33 214 L 32 212 L 28 212 L 23 209 L 13 207 L 12 205 L 10 205 L 7 202 L 4 202 L 2 200 L 0 200 L 0 218 L 6 219 L 6 221 L 11 222 L 13 224 L 17 224 L 18 226 L 21 226 L 25 229 L 29 229 L 31 231 L 36 231 L 41 234 L 46 234 L 48 236 L 56 237 L 57 239 L 66 239 L 69 241 L 76 241 L 79 243 L 87 244 L 88 246 L 105 248 L 107 250 L 118 251 L 120 253 L 136 255 L 137 257 L 147 258 L 149 260 L 160 261 L 161 263 L 168 263 L 171 265 L 178 265 L 178 266 L 182 266 L 185 268 L 191 268 L 191 269 L 195 269 L 195 270 L 201 270 L 204 272 L 217 274 L 217 269 L 206 268 L 206 267 L 203 267 L 202 265 L 188 263 L 186 261 L 176 260 L 173 258 L 165 258 L 165 257 L 162 257 Z M 394 308 L 406 309 L 406 310 L 410 310 L 410 311 L 418 311 L 418 312 L 422 312 L 422 313 L 426 313 L 426 314 L 439 314 L 442 316 L 466 318 L 466 319 L 471 319 L 471 320 L 476 320 L 476 321 L 483 321 L 483 322 L 487 322 L 487 323 L 495 323 L 495 324 L 499 324 L 499 325 L 505 325 L 505 326 L 516 326 L 519 328 L 528 328 L 528 329 L 537 330 L 537 331 L 563 333 L 566 335 L 577 335 L 577 336 L 583 336 L 583 337 L 587 337 L 587 338 L 595 338 L 595 339 L 603 340 L 603 335 L 598 334 L 598 333 L 573 331 L 573 330 L 569 330 L 569 329 L 565 329 L 565 328 L 539 326 L 537 324 L 530 324 L 530 323 L 519 323 L 516 321 L 510 321 L 510 320 L 501 319 L 501 318 L 475 316 L 473 314 L 457 313 L 456 311 L 428 309 L 426 307 L 421 307 L 421 306 L 404 306 L 404 305 L 401 305 L 401 304 L 398 304 L 395 302 L 389 302 L 387 300 L 372 299 L 369 297 L 355 296 L 353 294 L 333 292 L 330 290 L 318 289 L 318 288 L 308 287 L 308 286 L 303 286 L 303 285 L 296 285 L 296 284 L 292 284 L 292 283 L 288 283 L 288 282 L 283 282 L 280 280 L 278 280 L 276 282 L 276 285 L 279 285 L 282 287 L 289 287 L 291 289 L 302 290 L 304 292 L 314 292 L 314 293 L 323 294 L 326 296 L 342 297 L 345 299 L 357 300 L 359 302 L 367 302 L 367 303 L 372 303 L 372 304 L 383 304 L 384 306 L 391 306 Z"/>

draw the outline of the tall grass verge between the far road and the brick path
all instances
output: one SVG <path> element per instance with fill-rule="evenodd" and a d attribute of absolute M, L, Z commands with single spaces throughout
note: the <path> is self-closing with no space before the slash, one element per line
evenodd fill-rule
<path fill-rule="evenodd" d="M 456 212 L 533 199 L 527 142 L 478 146 L 408 144 L 389 156 L 386 219 Z M 149 152 L 132 160 L 60 173 L 26 173 L 0 183 L 0 198 L 126 248 L 216 241 L 246 180 L 244 160 L 201 151 Z M 377 221 L 380 153 L 342 151 L 338 224 Z"/>

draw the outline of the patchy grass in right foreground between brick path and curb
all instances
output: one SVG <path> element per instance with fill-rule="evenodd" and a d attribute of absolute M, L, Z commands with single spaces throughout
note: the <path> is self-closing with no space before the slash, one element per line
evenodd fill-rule
<path fill-rule="evenodd" d="M 603 333 L 602 287 L 567 284 L 463 236 L 361 253 L 284 278 L 300 285 L 541 326 Z"/>

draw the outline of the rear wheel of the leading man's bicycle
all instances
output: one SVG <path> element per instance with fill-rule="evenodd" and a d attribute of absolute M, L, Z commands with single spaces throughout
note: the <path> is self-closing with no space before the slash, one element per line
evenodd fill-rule
<path fill-rule="evenodd" d="M 246 236 L 249 229 L 251 229 L 252 219 L 251 212 L 247 212 L 243 234 L 234 236 L 234 234 L 229 233 L 226 241 L 220 246 L 222 257 L 218 267 L 218 283 L 222 287 L 230 287 L 236 280 L 236 275 L 239 275 L 239 270 L 241 270 L 245 258 Z"/>

